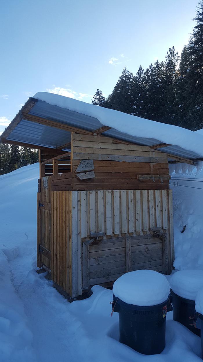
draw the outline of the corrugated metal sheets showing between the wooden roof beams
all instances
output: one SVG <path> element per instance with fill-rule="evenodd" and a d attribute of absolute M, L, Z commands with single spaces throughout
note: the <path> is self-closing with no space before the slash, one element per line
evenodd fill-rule
<path fill-rule="evenodd" d="M 75 126 L 88 131 L 94 131 L 103 126 L 97 118 L 71 111 L 69 109 L 61 108 L 56 105 L 50 105 L 47 102 L 41 100 L 37 101 L 37 103 L 31 109 L 30 114 L 42 118 L 52 119 L 56 122 Z M 120 132 L 113 128 L 103 132 L 102 135 L 146 146 L 153 146 L 155 144 L 162 143 L 158 139 L 136 137 L 124 132 Z M 23 119 L 6 139 L 35 144 L 37 146 L 56 148 L 70 142 L 71 134 L 70 132 L 64 130 L 44 126 L 39 123 L 26 121 Z M 159 150 L 190 159 L 201 157 L 195 152 L 187 151 L 175 145 L 159 148 Z"/>

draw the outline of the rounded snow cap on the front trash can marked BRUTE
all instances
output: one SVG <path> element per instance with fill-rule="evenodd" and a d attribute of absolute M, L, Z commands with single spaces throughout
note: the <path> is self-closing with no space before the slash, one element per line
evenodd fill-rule
<path fill-rule="evenodd" d="M 115 297 L 135 306 L 155 306 L 168 299 L 170 285 L 163 274 L 154 270 L 136 270 L 114 282 Z"/>

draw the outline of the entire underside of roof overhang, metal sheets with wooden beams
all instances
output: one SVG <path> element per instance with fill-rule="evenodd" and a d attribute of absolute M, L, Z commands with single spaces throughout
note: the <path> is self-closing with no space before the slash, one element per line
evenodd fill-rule
<path fill-rule="evenodd" d="M 151 146 L 169 154 L 169 161 L 193 163 L 202 160 L 195 152 L 176 145 L 163 144 L 158 139 L 144 138 L 120 132 L 102 125 L 94 117 L 30 97 L 0 137 L 0 142 L 17 144 L 55 153 L 70 150 L 71 132 L 101 134 L 118 142 Z"/>

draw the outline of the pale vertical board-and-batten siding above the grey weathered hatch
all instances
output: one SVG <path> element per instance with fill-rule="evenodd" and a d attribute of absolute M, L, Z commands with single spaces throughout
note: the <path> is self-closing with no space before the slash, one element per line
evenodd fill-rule
<path fill-rule="evenodd" d="M 153 228 L 169 230 L 168 210 L 172 217 L 172 203 L 169 202 L 168 195 L 171 195 L 171 190 L 67 192 L 77 192 L 78 197 L 83 200 L 81 202 L 81 237 L 90 237 L 90 233 L 99 232 L 114 237 L 131 233 L 149 234 L 150 229 Z M 103 215 L 105 215 L 105 222 L 103 222 Z"/>

